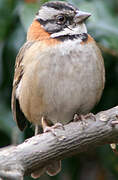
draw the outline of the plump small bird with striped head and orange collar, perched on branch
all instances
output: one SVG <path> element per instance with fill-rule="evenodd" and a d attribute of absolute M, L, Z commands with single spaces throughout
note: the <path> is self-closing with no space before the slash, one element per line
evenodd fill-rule
<path fill-rule="evenodd" d="M 104 61 L 85 25 L 90 13 L 64 1 L 44 3 L 30 25 L 15 63 L 13 117 L 21 131 L 31 122 L 35 135 L 86 115 L 99 102 L 105 84 Z M 61 162 L 42 167 L 54 176 Z"/>

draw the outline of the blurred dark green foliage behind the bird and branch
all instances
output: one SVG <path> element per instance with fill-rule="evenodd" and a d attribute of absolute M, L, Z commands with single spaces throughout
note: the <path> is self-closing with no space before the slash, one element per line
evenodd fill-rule
<path fill-rule="evenodd" d="M 11 113 L 14 63 L 26 40 L 35 13 L 46 0 L 0 0 L 0 148 L 21 143 L 33 135 L 33 128 L 20 132 Z M 118 104 L 118 0 L 68 0 L 79 9 L 92 13 L 86 24 L 99 44 L 105 62 L 106 85 L 97 113 Z M 31 180 L 25 177 L 25 180 Z M 63 160 L 62 171 L 40 180 L 117 180 L 118 156 L 109 145 Z"/>

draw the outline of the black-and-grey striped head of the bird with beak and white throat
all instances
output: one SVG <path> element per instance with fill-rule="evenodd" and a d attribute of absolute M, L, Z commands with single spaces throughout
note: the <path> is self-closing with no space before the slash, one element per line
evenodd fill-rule
<path fill-rule="evenodd" d="M 36 14 L 34 22 L 37 24 L 36 28 L 39 24 L 39 29 L 42 28 L 42 30 L 45 30 L 45 38 L 48 36 L 51 38 L 61 38 L 64 36 L 73 37 L 87 33 L 84 21 L 90 15 L 90 13 L 80 11 L 78 8 L 67 2 L 50 1 L 41 6 Z M 39 39 L 41 39 L 41 31 L 39 36 Z"/>

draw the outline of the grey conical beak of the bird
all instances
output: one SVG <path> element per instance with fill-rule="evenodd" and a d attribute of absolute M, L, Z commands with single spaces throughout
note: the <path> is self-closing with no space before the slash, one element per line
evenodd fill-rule
<path fill-rule="evenodd" d="M 91 13 L 87 13 L 87 12 L 84 12 L 84 11 L 76 11 L 75 23 L 83 22 L 83 21 L 85 21 L 89 16 L 91 16 Z"/>

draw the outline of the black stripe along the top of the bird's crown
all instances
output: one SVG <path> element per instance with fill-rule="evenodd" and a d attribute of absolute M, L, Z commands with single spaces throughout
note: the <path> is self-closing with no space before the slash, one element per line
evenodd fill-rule
<path fill-rule="evenodd" d="M 66 4 L 66 3 L 62 3 L 62 2 L 48 2 L 45 3 L 43 6 L 46 7 L 51 7 L 53 9 L 57 9 L 57 10 L 71 10 L 74 11 L 74 7 L 71 4 Z"/>

